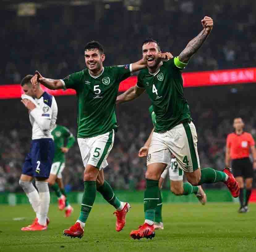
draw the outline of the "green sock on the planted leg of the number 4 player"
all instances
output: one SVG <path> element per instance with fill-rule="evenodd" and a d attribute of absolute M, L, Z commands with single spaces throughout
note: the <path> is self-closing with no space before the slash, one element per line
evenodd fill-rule
<path fill-rule="evenodd" d="M 144 192 L 145 220 L 154 221 L 159 198 L 158 180 L 146 179 L 146 190 Z"/>

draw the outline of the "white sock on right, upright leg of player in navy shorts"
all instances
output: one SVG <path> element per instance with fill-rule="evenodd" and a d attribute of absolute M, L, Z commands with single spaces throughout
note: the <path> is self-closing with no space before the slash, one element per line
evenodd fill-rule
<path fill-rule="evenodd" d="M 36 181 L 36 187 L 39 192 L 40 206 L 39 206 L 39 218 L 38 223 L 42 226 L 46 226 L 46 218 L 50 205 L 50 192 L 47 182 Z"/>

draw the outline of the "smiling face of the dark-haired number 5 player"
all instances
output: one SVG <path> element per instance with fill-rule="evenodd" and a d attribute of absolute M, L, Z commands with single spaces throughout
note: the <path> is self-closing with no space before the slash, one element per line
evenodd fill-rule
<path fill-rule="evenodd" d="M 105 54 L 101 54 L 98 49 L 88 49 L 84 51 L 84 58 L 86 67 L 92 71 L 97 72 L 102 69 Z"/>

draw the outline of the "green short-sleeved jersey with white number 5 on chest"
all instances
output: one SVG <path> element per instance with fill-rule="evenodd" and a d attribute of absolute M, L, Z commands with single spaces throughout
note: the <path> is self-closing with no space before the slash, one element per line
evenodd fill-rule
<path fill-rule="evenodd" d="M 117 128 L 118 87 L 130 75 L 130 65 L 123 65 L 104 67 L 97 76 L 84 69 L 63 79 L 64 88 L 76 91 L 78 138 L 98 136 Z"/>

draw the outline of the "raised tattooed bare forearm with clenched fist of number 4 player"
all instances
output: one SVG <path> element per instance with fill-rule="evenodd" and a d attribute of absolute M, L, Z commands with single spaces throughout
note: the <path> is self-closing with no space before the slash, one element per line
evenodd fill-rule
<path fill-rule="evenodd" d="M 197 50 L 203 45 L 206 38 L 211 33 L 213 27 L 213 20 L 210 17 L 204 17 L 201 20 L 203 30 L 192 39 L 186 46 L 186 48 L 180 53 L 179 60 L 182 63 L 188 63 L 190 58 L 197 52 Z"/>

